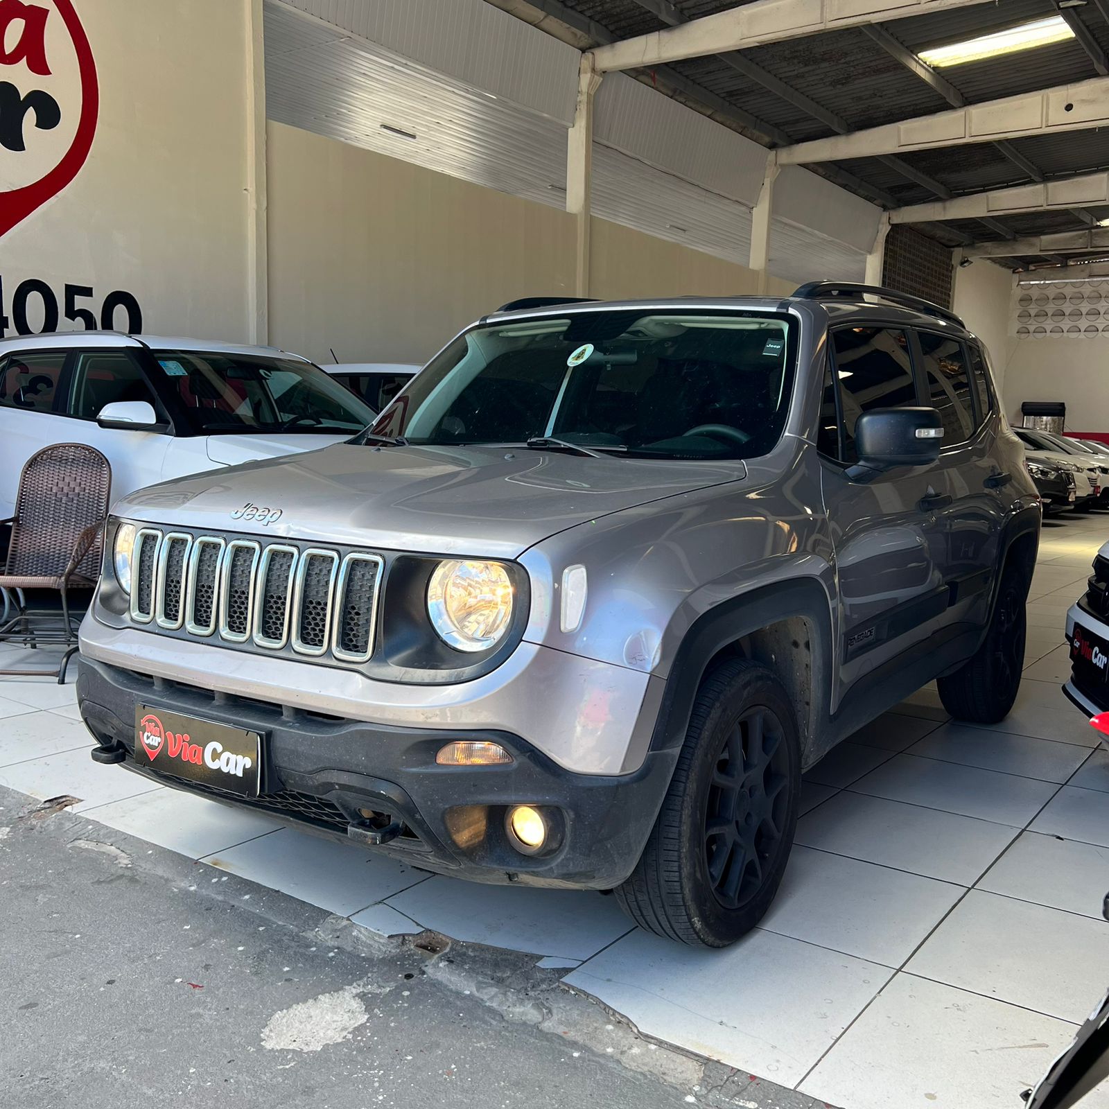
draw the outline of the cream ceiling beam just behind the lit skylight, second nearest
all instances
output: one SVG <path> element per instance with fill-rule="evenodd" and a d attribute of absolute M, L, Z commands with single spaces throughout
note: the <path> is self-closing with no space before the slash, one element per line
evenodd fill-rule
<path fill-rule="evenodd" d="M 735 9 L 742 11 L 742 8 Z M 813 139 L 779 151 L 782 165 L 904 154 L 1109 124 L 1109 78 L 1040 89 L 853 134 Z"/>

